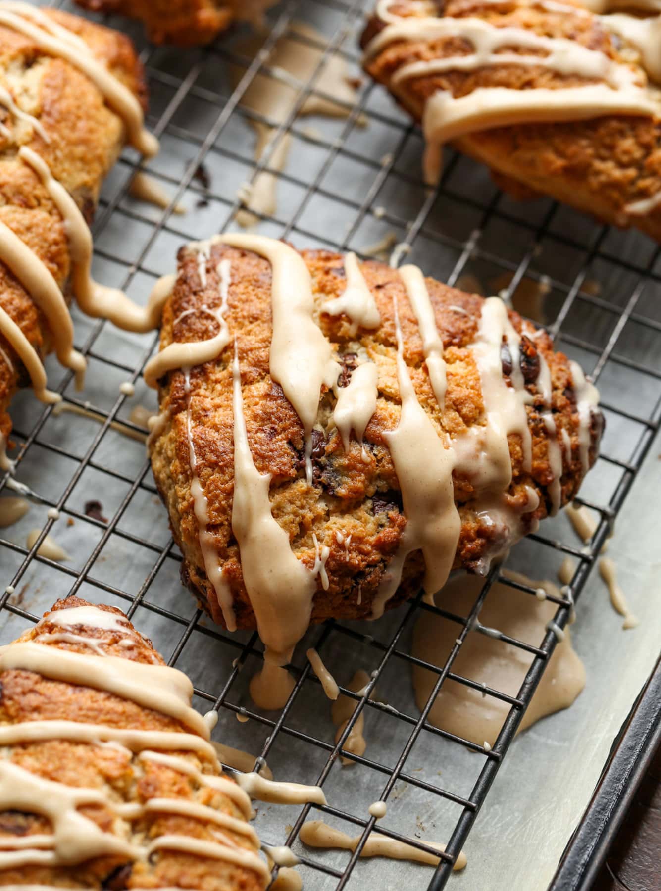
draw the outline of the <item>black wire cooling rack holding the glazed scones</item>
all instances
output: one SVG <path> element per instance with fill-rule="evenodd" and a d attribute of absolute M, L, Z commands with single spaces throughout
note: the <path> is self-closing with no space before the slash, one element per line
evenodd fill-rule
<path fill-rule="evenodd" d="M 291 0 L 269 14 L 272 27 L 253 60 L 241 56 L 232 35 L 205 50 L 182 53 L 150 47 L 140 29 L 126 21 L 113 22 L 129 30 L 143 47 L 142 59 L 151 87 L 148 122 L 162 142 L 161 156 L 150 164 L 150 170 L 169 188 L 172 203 L 161 212 L 128 197 L 139 159 L 135 152 L 126 150 L 104 187 L 94 224 L 97 277 L 144 299 L 151 282 L 174 267 L 175 251 L 182 243 L 232 226 L 240 207 L 236 194 L 241 182 L 270 169 L 273 149 L 289 133 L 290 163 L 282 173 L 273 170 L 278 180 L 278 210 L 272 217 L 262 218 L 261 232 L 288 238 L 301 247 L 355 249 L 358 253 L 369 242 L 388 236 L 404 246 L 399 251 L 401 257 L 408 255 L 426 273 L 450 284 L 470 274 L 473 280 L 485 282 L 489 290 L 503 290 L 503 296 L 513 298 L 515 306 L 532 287 L 543 295 L 544 321 L 558 347 L 581 361 L 599 383 L 608 430 L 614 431 L 610 437 L 607 433 L 598 465 L 584 486 L 586 497 L 579 499 L 599 516 L 590 544 L 577 547 L 575 539 L 567 534 L 566 521 L 562 525 L 559 519 L 544 523 L 528 540 L 529 548 L 551 554 L 552 560 L 559 562 L 569 555 L 577 561 L 570 590 L 578 600 L 659 423 L 658 249 L 642 236 L 616 233 L 548 200 L 518 204 L 495 188 L 483 168 L 452 151 L 447 153 L 445 173 L 437 190 L 426 190 L 419 175 L 418 128 L 369 82 L 363 81 L 359 102 L 347 110 L 346 119 L 315 120 L 314 129 L 307 127 L 297 118 L 306 97 L 317 94 L 333 101 L 332 95 L 323 92 L 320 80 L 324 61 L 339 54 L 357 70 L 356 37 L 370 7 L 371 3 L 344 0 Z M 279 37 L 289 35 L 301 43 L 316 45 L 314 38 L 291 32 L 292 20 L 299 18 L 312 22 L 323 36 L 318 45 L 319 65 L 307 83 L 298 85 L 295 107 L 289 118 L 278 124 L 241 108 L 241 96 L 257 73 L 283 77 L 282 71 L 269 68 L 267 62 Z M 226 76 L 229 66 L 243 71 L 237 86 L 232 86 Z M 252 159 L 249 129 L 250 121 L 255 120 L 274 127 L 273 142 L 257 165 Z M 173 214 L 178 200 L 192 208 L 184 217 Z M 526 307 L 523 309 L 525 312 Z M 429 885 L 445 887 L 555 647 L 554 634 L 545 634 L 539 646 L 507 639 L 526 650 L 532 664 L 516 697 L 486 687 L 487 696 L 510 706 L 491 750 L 437 730 L 427 716 L 447 680 L 481 686 L 454 673 L 453 660 L 491 584 L 496 579 L 506 582 L 498 568 L 486 578 L 467 617 L 429 607 L 417 598 L 375 625 L 328 622 L 308 634 L 322 658 L 332 659 L 335 650 L 348 654 L 351 674 L 354 667 L 372 668 L 371 684 L 363 696 L 341 688 L 344 695 L 355 699 L 356 708 L 337 745 L 328 722 L 320 727 L 316 719 L 316 723 L 305 720 L 310 697 L 318 703 L 321 691 L 300 652 L 293 668 L 296 687 L 279 715 L 273 717 L 273 713 L 242 705 L 242 701 L 249 702 L 244 696 L 245 679 L 254 673 L 261 658 L 257 635 L 224 634 L 194 608 L 177 581 L 181 557 L 165 528 L 165 511 L 155 503 L 156 489 L 142 445 L 132 444 L 113 426 L 119 421 L 125 431 L 137 435 L 143 432 L 128 418 L 134 402 L 114 394 L 122 380 L 133 382 L 138 393 L 144 392 L 143 366 L 157 347 L 158 338 L 127 336 L 114 331 L 110 324 L 91 323 L 75 310 L 74 315 L 77 346 L 89 363 L 89 401 L 73 391 L 70 373 L 51 360 L 49 379 L 53 386 L 59 375 L 59 390 L 66 403 L 93 411 L 98 424 L 75 414 L 57 416 L 52 406 L 36 405 L 29 393 L 15 400 L 16 478 L 31 486 L 40 503 L 61 511 L 61 519 L 54 529 L 54 519 L 43 521 L 37 541 L 29 550 L 9 530 L 0 538 L 2 581 L 9 585 L 1 601 L 5 633 L 11 639 L 26 620 L 36 621 L 56 597 L 69 593 L 121 606 L 141 630 L 146 628 L 152 635 L 170 665 L 181 666 L 192 675 L 197 704 L 220 711 L 224 741 L 232 743 L 236 738 L 246 748 L 252 747 L 258 756 L 257 769 L 263 764 L 259 759 L 271 762 L 280 747 L 281 754 L 284 749 L 290 755 L 290 764 L 306 764 L 305 777 L 297 774 L 287 779 L 318 782 L 329 789 L 339 772 L 339 756 L 344 755 L 361 765 L 362 775 L 371 779 L 374 792 L 370 800 L 388 800 L 388 814 L 405 813 L 404 803 L 397 802 L 397 791 L 403 787 L 447 805 L 450 816 L 444 832 L 448 844 Z M 8 483 L 11 486 L 5 475 L 0 481 L 4 494 Z M 97 496 L 102 505 L 90 509 L 88 501 Z M 62 528 L 69 536 L 75 559 L 57 563 L 37 556 L 45 535 L 53 532 L 56 537 L 66 537 Z M 506 584 L 517 588 L 522 596 L 535 593 L 526 585 Z M 570 598 L 551 600 L 558 605 L 554 621 L 564 628 Z M 421 610 L 436 612 L 456 623 L 456 644 L 440 668 L 416 660 L 403 645 Z M 398 708 L 392 702 L 369 699 L 375 686 L 379 699 L 389 696 L 394 674 L 410 670 L 413 663 L 437 675 L 420 714 L 412 709 L 410 692 L 408 701 L 402 700 Z M 347 683 L 344 674 L 339 679 Z M 379 745 L 371 745 L 364 756 L 352 756 L 342 746 L 363 713 L 370 721 L 375 720 L 374 715 L 388 720 L 388 731 L 385 739 L 381 733 Z M 228 720 L 234 716 L 249 718 L 250 729 L 245 730 L 245 723 L 230 725 Z M 462 781 L 454 783 L 452 777 L 446 781 L 442 775 L 439 782 L 437 773 L 431 774 L 432 779 L 429 774 L 421 778 L 416 773 L 411 756 L 422 737 L 437 740 L 446 750 L 471 749 L 478 753 L 471 756 L 470 770 Z M 293 766 L 291 773 L 296 774 Z M 346 788 L 351 781 L 344 782 Z M 343 888 L 356 874 L 368 875 L 360 870 L 371 863 L 357 863 L 375 821 L 365 816 L 366 806 L 359 812 L 357 806 L 337 805 L 337 800 L 348 802 L 350 797 L 329 795 L 331 804 L 326 807 L 290 809 L 290 824 L 278 838 L 274 837 L 273 824 L 267 825 L 271 837 L 265 840 L 273 844 L 282 844 L 285 834 L 287 843 L 295 844 L 308 815 L 337 818 L 346 823 L 350 833 L 360 836 L 348 861 L 346 853 L 339 861 L 298 846 L 305 870 L 314 876 L 308 887 Z M 322 814 L 311 814 L 311 810 Z M 425 849 L 420 833 L 406 829 L 407 819 L 412 821 L 411 813 L 393 823 L 401 831 L 385 822 L 379 823 L 379 832 L 406 838 Z M 284 825 L 282 817 L 279 822 Z M 427 881 L 428 873 L 415 873 L 416 887 Z"/>

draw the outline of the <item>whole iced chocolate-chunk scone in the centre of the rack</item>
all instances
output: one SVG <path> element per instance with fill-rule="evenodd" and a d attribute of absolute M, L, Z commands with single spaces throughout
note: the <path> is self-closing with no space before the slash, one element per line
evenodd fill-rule
<path fill-rule="evenodd" d="M 180 250 L 149 440 L 182 574 L 286 661 L 486 572 L 576 494 L 598 394 L 545 331 L 415 266 L 231 234 Z"/>

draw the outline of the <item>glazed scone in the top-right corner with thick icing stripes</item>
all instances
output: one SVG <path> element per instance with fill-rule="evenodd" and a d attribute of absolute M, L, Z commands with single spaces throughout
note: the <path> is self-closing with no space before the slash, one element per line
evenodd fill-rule
<path fill-rule="evenodd" d="M 422 125 L 429 182 L 452 143 L 517 197 L 661 241 L 656 21 L 571 0 L 380 0 L 363 68 Z"/>

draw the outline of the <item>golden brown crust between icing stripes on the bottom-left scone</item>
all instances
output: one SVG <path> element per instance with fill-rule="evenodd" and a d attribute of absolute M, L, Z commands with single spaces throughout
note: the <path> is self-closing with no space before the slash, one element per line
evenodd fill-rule
<path fill-rule="evenodd" d="M 53 610 L 86 606 L 87 601 L 69 597 L 57 601 Z M 114 607 L 100 609 L 123 616 Z M 50 613 L 38 625 L 19 638 L 20 642 L 34 641 L 45 646 L 74 652 L 89 653 L 81 642 L 48 642 L 46 634 L 62 631 L 61 625 L 48 622 Z M 76 634 L 93 638 L 107 656 L 119 656 L 134 662 L 163 665 L 163 659 L 151 642 L 141 637 L 126 623 L 126 633 L 77 625 Z M 126 646 L 126 640 L 135 642 Z M 124 645 L 122 644 L 124 642 Z M 105 691 L 79 687 L 71 683 L 52 681 L 30 671 L 11 670 L 0 674 L 0 723 L 22 721 L 67 720 L 103 723 L 110 727 L 169 732 L 191 732 L 190 728 L 159 712 L 143 708 Z M 202 772 L 217 774 L 216 765 L 203 754 L 190 751 L 168 751 L 169 755 L 183 756 Z M 233 817 L 242 817 L 233 801 L 222 792 L 199 787 L 182 772 L 163 764 L 140 761 L 127 749 L 93 746 L 69 740 L 47 740 L 12 748 L 14 764 L 52 781 L 71 787 L 102 789 L 121 803 L 144 802 L 153 797 L 181 798 L 201 805 L 209 805 Z M 113 814 L 102 805 L 79 808 L 104 831 L 118 831 Z M 147 813 L 131 822 L 127 838 L 143 835 L 156 838 L 170 833 L 215 841 L 214 825 L 199 819 L 171 813 Z M 48 832 L 48 820 L 36 814 L 5 811 L 0 813 L 0 838 Z M 254 851 L 245 836 L 233 830 L 223 830 L 242 847 Z M 21 866 L 16 870 L 0 871 L 0 887 L 7 885 L 47 885 L 59 887 L 108 888 L 120 891 L 131 887 L 189 887 L 204 891 L 258 891 L 263 883 L 257 874 L 231 862 L 218 861 L 192 854 L 161 849 L 147 862 L 131 864 L 122 856 L 105 856 L 70 867 Z"/>

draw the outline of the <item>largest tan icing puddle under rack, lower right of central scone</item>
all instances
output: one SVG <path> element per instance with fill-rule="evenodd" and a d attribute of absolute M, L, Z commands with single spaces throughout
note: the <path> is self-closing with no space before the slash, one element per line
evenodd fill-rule
<path fill-rule="evenodd" d="M 560 596 L 551 582 L 534 582 L 508 572 L 507 576 L 533 588 Z M 484 584 L 484 579 L 461 575 L 453 578 L 437 594 L 437 605 L 459 616 L 468 616 Z M 556 604 L 542 601 L 496 582 L 480 612 L 482 625 L 495 626 L 503 634 L 538 646 L 546 625 L 557 609 Z M 449 619 L 424 612 L 413 630 L 412 654 L 432 665 L 443 666 L 457 638 L 459 625 Z M 494 690 L 517 696 L 533 656 L 497 637 L 470 631 L 453 662 L 453 673 L 477 683 L 487 683 Z M 413 666 L 413 689 L 417 706 L 422 709 L 437 681 L 437 674 Z M 546 667 L 535 695 L 523 715 L 518 730 L 552 715 L 574 702 L 585 685 L 583 662 L 572 650 L 571 635 L 565 629 Z M 428 715 L 429 723 L 465 740 L 482 746 L 486 740 L 494 746 L 502 722 L 510 706 L 500 699 L 484 696 L 482 691 L 446 680 Z"/>

